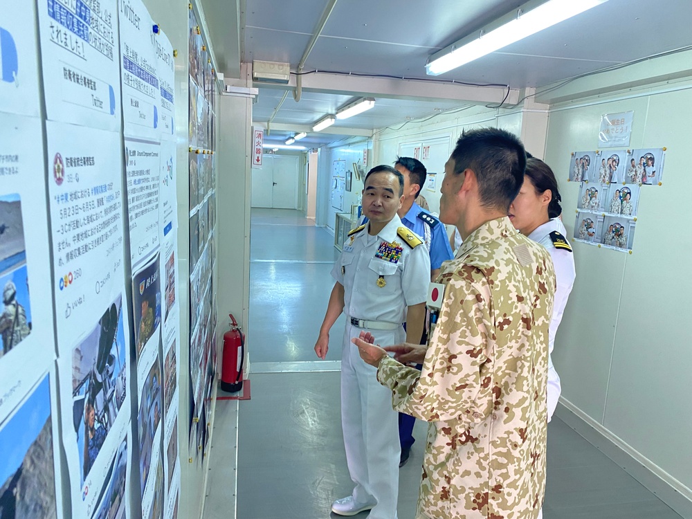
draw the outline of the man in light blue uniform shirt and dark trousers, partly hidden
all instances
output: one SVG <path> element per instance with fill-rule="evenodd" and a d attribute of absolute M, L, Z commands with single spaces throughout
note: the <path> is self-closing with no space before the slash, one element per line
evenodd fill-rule
<path fill-rule="evenodd" d="M 435 281 L 439 273 L 442 262 L 451 260 L 454 255 L 449 245 L 444 224 L 430 215 L 429 212 L 421 209 L 416 203 L 416 199 L 421 189 L 426 185 L 428 172 L 421 161 L 412 157 L 399 157 L 394 163 L 394 169 L 403 175 L 403 203 L 401 209 L 397 211 L 401 223 L 423 238 L 423 241 L 430 255 L 430 280 Z M 428 336 L 423 331 L 421 344 L 425 344 Z M 416 366 L 419 370 L 421 365 Z M 399 413 L 399 443 L 401 444 L 401 459 L 399 466 L 403 466 L 408 461 L 413 442 L 413 426 L 416 422 L 414 417 Z"/>

